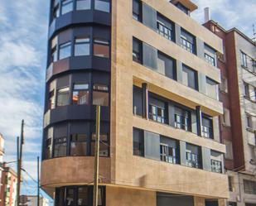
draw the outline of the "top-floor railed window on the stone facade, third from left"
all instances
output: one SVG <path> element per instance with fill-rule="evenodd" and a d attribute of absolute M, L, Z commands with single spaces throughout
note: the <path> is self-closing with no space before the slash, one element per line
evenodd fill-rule
<path fill-rule="evenodd" d="M 196 55 L 196 37 L 181 29 L 181 47 Z"/>

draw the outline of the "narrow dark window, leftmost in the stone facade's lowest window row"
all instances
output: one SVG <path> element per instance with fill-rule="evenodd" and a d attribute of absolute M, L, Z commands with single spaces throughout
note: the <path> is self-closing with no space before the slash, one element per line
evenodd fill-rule
<path fill-rule="evenodd" d="M 133 156 L 144 156 L 144 132 L 133 127 Z"/>

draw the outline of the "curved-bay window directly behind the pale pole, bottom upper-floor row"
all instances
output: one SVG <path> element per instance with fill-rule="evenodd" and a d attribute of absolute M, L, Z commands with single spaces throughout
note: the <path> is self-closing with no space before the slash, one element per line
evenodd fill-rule
<path fill-rule="evenodd" d="M 91 156 L 94 156 L 95 140 L 96 140 L 96 135 L 92 134 L 92 140 L 90 143 Z M 109 141 L 108 141 L 108 135 L 106 134 L 99 135 L 99 156 L 109 156 Z"/>

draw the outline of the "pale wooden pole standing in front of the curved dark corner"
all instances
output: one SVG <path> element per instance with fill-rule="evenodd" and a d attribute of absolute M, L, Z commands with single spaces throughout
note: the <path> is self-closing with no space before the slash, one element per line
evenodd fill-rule
<path fill-rule="evenodd" d="M 96 106 L 96 140 L 94 148 L 94 204 L 98 206 L 98 184 L 99 184 L 99 131 L 100 131 L 100 106 Z"/>

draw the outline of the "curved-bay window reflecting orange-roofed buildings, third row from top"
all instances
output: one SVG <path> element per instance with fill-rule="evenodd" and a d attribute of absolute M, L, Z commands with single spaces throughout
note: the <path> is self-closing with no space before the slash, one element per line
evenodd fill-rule
<path fill-rule="evenodd" d="M 88 104 L 89 103 L 89 85 L 75 84 L 73 89 L 73 104 Z"/>

